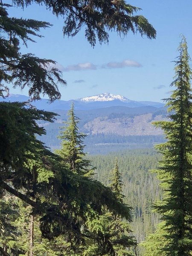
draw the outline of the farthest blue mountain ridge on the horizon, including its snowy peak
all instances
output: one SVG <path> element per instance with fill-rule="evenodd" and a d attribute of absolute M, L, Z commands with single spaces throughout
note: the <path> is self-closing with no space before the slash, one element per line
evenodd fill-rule
<path fill-rule="evenodd" d="M 27 101 L 29 98 L 27 96 L 19 95 L 19 94 L 10 94 L 6 99 L 0 98 L 0 101 L 6 102 L 23 102 Z M 120 95 L 113 95 L 111 93 L 102 93 L 96 96 L 89 96 L 81 99 L 75 100 L 55 100 L 51 104 L 47 99 L 41 99 L 39 101 L 32 102 L 38 109 L 44 109 L 47 111 L 53 110 L 69 110 L 71 103 L 74 102 L 76 110 L 93 110 L 98 108 L 109 108 L 114 106 L 122 106 L 129 108 L 136 107 L 146 107 L 146 106 L 154 106 L 156 108 L 163 107 L 163 103 L 160 102 L 137 102 L 134 100 L 127 99 Z"/>

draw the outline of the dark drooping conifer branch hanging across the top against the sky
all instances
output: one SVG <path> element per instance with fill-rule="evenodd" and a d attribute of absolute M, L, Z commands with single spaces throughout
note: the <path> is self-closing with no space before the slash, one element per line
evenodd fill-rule
<path fill-rule="evenodd" d="M 53 14 L 64 17 L 64 35 L 74 36 L 85 26 L 85 37 L 92 46 L 96 44 L 96 36 L 100 44 L 108 43 L 110 30 L 123 37 L 129 31 L 139 32 L 148 38 L 156 36 L 148 20 L 143 15 L 137 15 L 141 9 L 124 0 L 13 0 L 16 6 L 23 8 L 34 2 L 44 4 Z"/>

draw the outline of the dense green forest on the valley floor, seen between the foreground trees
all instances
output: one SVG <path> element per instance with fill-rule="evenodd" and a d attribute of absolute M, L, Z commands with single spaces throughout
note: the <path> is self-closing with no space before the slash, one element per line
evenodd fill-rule
<path fill-rule="evenodd" d="M 115 157 L 118 159 L 125 202 L 133 207 L 131 226 L 140 243 L 149 233 L 154 232 L 155 224 L 159 222 L 160 215 L 152 212 L 152 205 L 160 199 L 161 189 L 156 175 L 150 170 L 157 168 L 161 155 L 154 149 L 135 149 L 89 156 L 93 166 L 96 166 L 96 179 L 105 185 L 110 183 L 110 171 Z M 138 255 L 143 255 L 142 247 L 137 250 Z"/>

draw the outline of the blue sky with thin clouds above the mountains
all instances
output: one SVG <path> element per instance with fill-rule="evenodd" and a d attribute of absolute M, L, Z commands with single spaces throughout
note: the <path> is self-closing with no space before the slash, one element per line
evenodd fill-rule
<path fill-rule="evenodd" d="M 185 35 L 189 55 L 192 56 L 191 0 L 131 0 L 143 10 L 157 30 L 156 39 L 133 35 L 121 39 L 110 32 L 109 44 L 96 44 L 94 49 L 86 41 L 84 30 L 73 38 L 64 38 L 63 19 L 57 18 L 44 6 L 29 6 L 22 10 L 12 7 L 10 16 L 34 18 L 52 23 L 42 29 L 44 38 L 22 46 L 22 53 L 32 52 L 41 58 L 58 62 L 67 87 L 59 87 L 61 99 L 77 99 L 99 93 L 120 94 L 132 100 L 161 101 L 169 96 L 169 84 L 174 76 L 175 57 L 180 34 Z M 10 88 L 10 93 L 27 95 L 27 90 Z"/>

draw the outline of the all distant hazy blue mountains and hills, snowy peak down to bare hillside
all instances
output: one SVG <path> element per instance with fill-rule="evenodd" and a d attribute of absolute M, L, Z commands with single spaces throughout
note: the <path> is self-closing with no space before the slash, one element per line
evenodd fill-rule
<path fill-rule="evenodd" d="M 110 93 L 90 98 L 90 100 L 86 98 L 86 102 L 81 99 L 55 101 L 52 104 L 47 104 L 46 99 L 33 102 L 39 109 L 54 111 L 58 114 L 54 123 L 43 121 L 38 123 L 47 130 L 47 135 L 39 139 L 52 150 L 60 147 L 60 141 L 57 139 L 59 127 L 64 126 L 63 122 L 67 121 L 67 112 L 73 101 L 76 116 L 81 119 L 79 129 L 88 135 L 85 140 L 86 150 L 91 154 L 106 154 L 109 151 L 126 148 L 150 148 L 154 143 L 163 142 L 163 132 L 151 124 L 154 120 L 166 118 L 166 108 L 157 107 L 159 104 L 163 105 L 162 103 L 146 102 L 144 104 L 142 102 L 144 105 L 141 105 L 140 102 Z M 5 101 L 27 101 L 28 99 L 27 96 L 10 95 Z"/>

